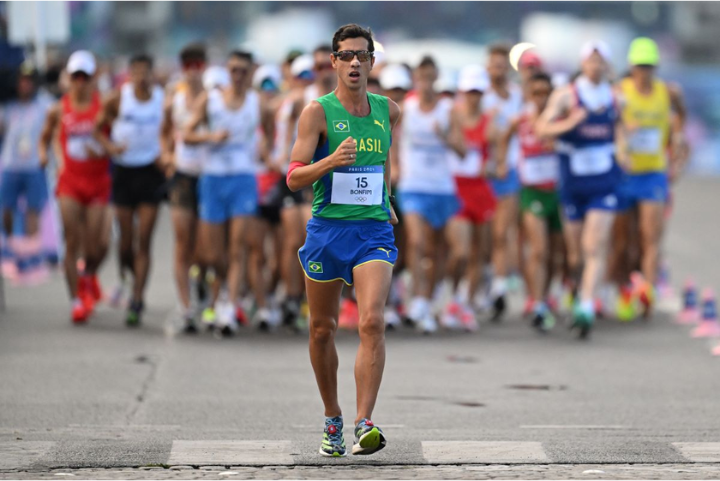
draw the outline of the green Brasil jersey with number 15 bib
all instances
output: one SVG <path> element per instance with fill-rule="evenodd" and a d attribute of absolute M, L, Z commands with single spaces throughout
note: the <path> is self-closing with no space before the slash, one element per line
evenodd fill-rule
<path fill-rule="evenodd" d="M 390 151 L 391 125 L 388 99 L 367 94 L 370 115 L 355 117 L 345 110 L 335 92 L 317 101 L 325 111 L 327 141 L 315 151 L 319 162 L 348 137 L 357 142 L 353 165 L 339 167 L 313 184 L 313 216 L 337 220 L 390 219 L 390 201 L 385 185 L 385 161 Z"/>

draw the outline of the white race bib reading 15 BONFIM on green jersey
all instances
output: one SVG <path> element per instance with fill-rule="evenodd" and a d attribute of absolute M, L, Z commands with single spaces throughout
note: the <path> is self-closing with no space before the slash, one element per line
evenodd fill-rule
<path fill-rule="evenodd" d="M 333 171 L 332 204 L 380 205 L 385 182 L 382 165 L 339 167 Z"/>

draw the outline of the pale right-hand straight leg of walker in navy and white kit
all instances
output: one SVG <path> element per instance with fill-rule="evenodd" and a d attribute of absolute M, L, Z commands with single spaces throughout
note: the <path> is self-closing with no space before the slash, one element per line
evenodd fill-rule
<path fill-rule="evenodd" d="M 614 212 L 591 210 L 585 216 L 582 232 L 584 261 L 580 298 L 592 301 L 607 264 L 607 247 L 615 219 Z"/>

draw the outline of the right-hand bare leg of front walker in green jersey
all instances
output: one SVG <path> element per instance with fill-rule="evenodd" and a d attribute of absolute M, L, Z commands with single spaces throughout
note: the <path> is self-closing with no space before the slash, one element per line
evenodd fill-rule
<path fill-rule="evenodd" d="M 383 310 L 392 282 L 392 266 L 369 262 L 353 270 L 355 297 L 360 314 L 360 347 L 355 359 L 357 417 L 372 419 L 385 368 L 385 320 Z"/>

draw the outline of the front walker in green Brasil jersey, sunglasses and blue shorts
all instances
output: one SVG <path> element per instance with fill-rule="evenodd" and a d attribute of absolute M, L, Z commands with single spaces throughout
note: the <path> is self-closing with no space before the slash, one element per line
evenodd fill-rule
<path fill-rule="evenodd" d="M 385 366 L 383 310 L 397 259 L 388 157 L 400 108 L 367 91 L 375 50 L 369 30 L 340 27 L 332 47 L 338 86 L 303 110 L 287 182 L 293 191 L 312 185 L 315 192 L 299 257 L 310 307 L 310 359 L 325 405 L 320 454 L 345 456 L 334 341 L 343 284 L 354 284 L 360 313 L 352 452 L 372 454 L 386 444 L 370 419 Z"/>

